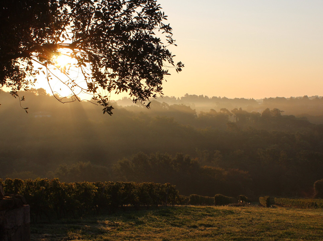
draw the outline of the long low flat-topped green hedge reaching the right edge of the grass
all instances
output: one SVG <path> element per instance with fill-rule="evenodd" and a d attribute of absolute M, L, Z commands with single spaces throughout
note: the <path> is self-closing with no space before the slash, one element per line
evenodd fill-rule
<path fill-rule="evenodd" d="M 323 199 L 275 198 L 275 204 L 284 207 L 323 208 Z"/>

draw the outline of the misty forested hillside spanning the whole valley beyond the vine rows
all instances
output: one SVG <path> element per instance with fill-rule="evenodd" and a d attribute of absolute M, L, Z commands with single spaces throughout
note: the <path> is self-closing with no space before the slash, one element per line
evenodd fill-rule
<path fill-rule="evenodd" d="M 25 99 L 28 114 L 0 93 L 0 178 L 170 182 L 183 195 L 203 196 L 311 196 L 323 178 L 323 125 L 264 105 L 272 100 L 196 112 L 176 98 L 158 99 L 150 110 L 114 104 L 106 116 L 92 103 L 62 104 L 41 89 Z M 313 117 L 323 103 L 286 101 L 296 109 L 307 101 L 304 114 Z"/>

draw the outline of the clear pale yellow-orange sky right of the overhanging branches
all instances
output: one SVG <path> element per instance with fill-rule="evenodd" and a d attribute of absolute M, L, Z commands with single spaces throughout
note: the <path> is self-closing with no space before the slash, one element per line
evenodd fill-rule
<path fill-rule="evenodd" d="M 323 95 L 323 1 L 159 0 L 185 68 L 164 94 Z"/>

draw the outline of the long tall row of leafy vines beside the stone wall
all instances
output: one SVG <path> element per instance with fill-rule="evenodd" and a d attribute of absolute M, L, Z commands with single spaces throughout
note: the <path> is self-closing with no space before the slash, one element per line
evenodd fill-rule
<path fill-rule="evenodd" d="M 167 206 L 180 203 L 175 186 L 157 183 L 134 182 L 59 182 L 58 179 L 0 179 L 4 192 L 22 195 L 30 206 L 34 221 L 53 215 L 82 217 L 84 214 L 113 212 L 131 206 Z"/>

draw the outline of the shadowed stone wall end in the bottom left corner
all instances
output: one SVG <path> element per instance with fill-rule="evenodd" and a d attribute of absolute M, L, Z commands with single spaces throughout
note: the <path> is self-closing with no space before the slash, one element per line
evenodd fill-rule
<path fill-rule="evenodd" d="M 0 241 L 30 241 L 30 209 L 20 195 L 5 195 L 0 185 Z"/>

